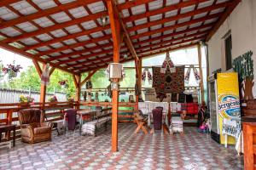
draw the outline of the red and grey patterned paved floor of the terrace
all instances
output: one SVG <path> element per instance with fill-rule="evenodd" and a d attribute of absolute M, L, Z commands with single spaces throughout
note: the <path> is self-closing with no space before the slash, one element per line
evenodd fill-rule
<path fill-rule="evenodd" d="M 225 149 L 195 127 L 185 134 L 133 134 L 136 125 L 119 125 L 119 152 L 110 147 L 111 128 L 98 137 L 61 135 L 39 144 L 17 142 L 0 150 L 0 169 L 242 169 L 242 156 Z"/>

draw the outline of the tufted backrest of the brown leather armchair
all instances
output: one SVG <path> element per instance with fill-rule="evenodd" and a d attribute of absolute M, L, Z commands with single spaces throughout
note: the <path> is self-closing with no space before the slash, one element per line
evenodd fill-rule
<path fill-rule="evenodd" d="M 20 125 L 43 122 L 42 111 L 39 109 L 24 109 L 18 112 Z"/>

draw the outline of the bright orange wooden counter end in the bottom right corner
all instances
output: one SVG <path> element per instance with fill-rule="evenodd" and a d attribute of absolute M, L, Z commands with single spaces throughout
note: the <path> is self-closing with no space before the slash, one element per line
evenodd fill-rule
<path fill-rule="evenodd" d="M 244 169 L 256 169 L 256 123 L 244 122 L 243 141 L 244 141 Z"/>

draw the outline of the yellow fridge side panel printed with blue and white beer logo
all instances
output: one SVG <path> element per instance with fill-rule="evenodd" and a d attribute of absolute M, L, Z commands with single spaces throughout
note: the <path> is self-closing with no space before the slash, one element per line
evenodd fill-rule
<path fill-rule="evenodd" d="M 218 73 L 217 89 L 220 143 L 224 144 L 225 140 L 224 135 L 222 134 L 223 119 L 231 119 L 241 116 L 237 73 Z M 236 139 L 229 136 L 228 144 L 236 144 Z"/>

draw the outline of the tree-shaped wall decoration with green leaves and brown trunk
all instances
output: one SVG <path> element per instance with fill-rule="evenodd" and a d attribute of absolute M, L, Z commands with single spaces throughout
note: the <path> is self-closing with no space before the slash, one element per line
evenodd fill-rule
<path fill-rule="evenodd" d="M 241 99 L 253 99 L 253 52 L 248 51 L 233 60 L 233 69 L 238 73 L 240 90 L 244 96 Z M 241 94 L 241 93 L 240 93 Z"/>

